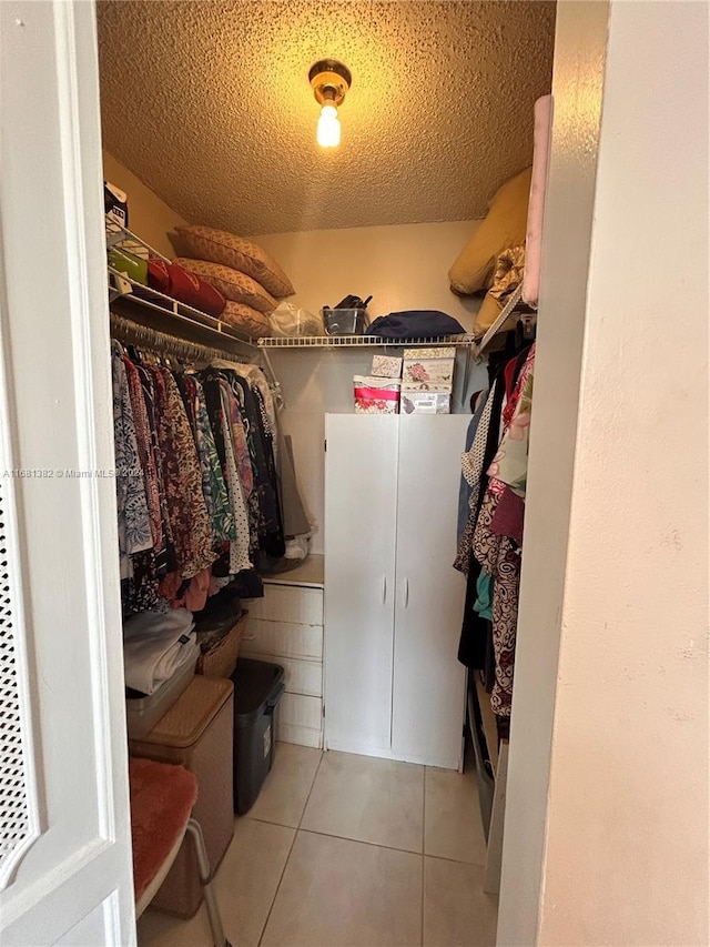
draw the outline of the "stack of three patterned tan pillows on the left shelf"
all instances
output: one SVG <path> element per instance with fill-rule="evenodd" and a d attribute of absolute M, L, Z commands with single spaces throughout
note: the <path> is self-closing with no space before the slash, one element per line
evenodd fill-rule
<path fill-rule="evenodd" d="M 261 246 L 211 226 L 185 225 L 170 234 L 180 266 L 226 298 L 224 322 L 260 338 L 270 335 L 268 315 L 295 290 L 278 263 Z"/>

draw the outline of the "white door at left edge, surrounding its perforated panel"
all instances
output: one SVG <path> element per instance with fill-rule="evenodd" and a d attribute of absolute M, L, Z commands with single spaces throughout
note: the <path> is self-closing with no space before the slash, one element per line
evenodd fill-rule
<path fill-rule="evenodd" d="M 0 17 L 2 421 L 23 472 L 6 542 L 37 772 L 1 938 L 133 945 L 94 6 L 7 0 Z"/>

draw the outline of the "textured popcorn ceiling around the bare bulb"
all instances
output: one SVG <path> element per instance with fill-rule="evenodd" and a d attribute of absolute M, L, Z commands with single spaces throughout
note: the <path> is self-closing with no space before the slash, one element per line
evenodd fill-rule
<path fill-rule="evenodd" d="M 531 157 L 555 4 L 100 0 L 104 145 L 194 223 L 242 234 L 467 220 Z M 353 85 L 316 144 L 318 59 Z"/>

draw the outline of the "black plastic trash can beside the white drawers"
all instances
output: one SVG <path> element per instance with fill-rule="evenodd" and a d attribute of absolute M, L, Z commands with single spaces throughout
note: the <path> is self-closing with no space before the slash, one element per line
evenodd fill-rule
<path fill-rule="evenodd" d="M 284 693 L 280 664 L 241 657 L 234 684 L 234 812 L 256 802 L 274 759 L 274 711 Z"/>

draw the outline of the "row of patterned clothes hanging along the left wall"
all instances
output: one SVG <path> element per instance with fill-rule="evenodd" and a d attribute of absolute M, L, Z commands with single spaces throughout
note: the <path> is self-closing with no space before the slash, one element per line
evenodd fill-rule
<path fill-rule="evenodd" d="M 252 550 L 283 544 L 263 373 L 194 374 L 118 342 L 112 371 L 124 615 L 200 611 L 237 578 L 258 595 Z"/>

